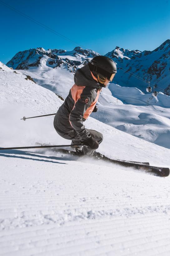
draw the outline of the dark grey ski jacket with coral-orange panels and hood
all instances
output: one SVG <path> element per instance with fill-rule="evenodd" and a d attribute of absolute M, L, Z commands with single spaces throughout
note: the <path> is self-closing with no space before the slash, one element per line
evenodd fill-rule
<path fill-rule="evenodd" d="M 54 127 L 60 133 L 74 131 L 75 138 L 84 140 L 90 138 L 90 133 L 83 121 L 93 111 L 102 87 L 88 64 L 75 72 L 74 81 L 69 95 L 55 115 Z"/>

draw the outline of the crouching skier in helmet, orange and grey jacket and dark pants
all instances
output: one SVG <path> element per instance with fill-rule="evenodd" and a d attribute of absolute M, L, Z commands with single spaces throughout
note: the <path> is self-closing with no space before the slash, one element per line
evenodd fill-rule
<path fill-rule="evenodd" d="M 75 84 L 70 89 L 65 102 L 59 107 L 54 128 L 71 144 L 84 144 L 82 153 L 93 155 L 103 140 L 103 135 L 95 130 L 86 129 L 83 122 L 96 112 L 96 102 L 102 87 L 112 81 L 117 72 L 116 64 L 106 56 L 96 56 L 87 65 L 75 72 Z"/>

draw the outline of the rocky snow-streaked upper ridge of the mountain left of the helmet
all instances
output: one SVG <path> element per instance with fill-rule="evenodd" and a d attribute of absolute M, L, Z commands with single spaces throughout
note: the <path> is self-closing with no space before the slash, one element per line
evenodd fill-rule
<path fill-rule="evenodd" d="M 7 66 L 22 70 L 36 67 L 41 69 L 45 62 L 47 67 L 63 66 L 70 72 L 75 72 L 77 68 L 86 65 L 96 55 L 99 54 L 92 50 L 84 50 L 81 47 L 75 47 L 72 51 L 36 48 L 18 52 L 7 63 Z"/>

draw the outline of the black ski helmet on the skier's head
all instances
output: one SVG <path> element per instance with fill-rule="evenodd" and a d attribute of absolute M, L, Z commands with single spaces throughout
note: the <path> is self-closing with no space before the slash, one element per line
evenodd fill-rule
<path fill-rule="evenodd" d="M 106 56 L 95 56 L 89 63 L 90 71 L 95 71 L 102 76 L 107 77 L 109 81 L 112 81 L 117 68 L 115 62 Z"/>

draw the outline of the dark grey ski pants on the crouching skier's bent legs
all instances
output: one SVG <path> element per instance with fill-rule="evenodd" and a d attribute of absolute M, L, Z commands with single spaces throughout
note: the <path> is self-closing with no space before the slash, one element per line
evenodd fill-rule
<path fill-rule="evenodd" d="M 57 128 L 56 129 L 56 132 L 62 137 L 62 138 L 65 138 L 65 139 L 70 139 L 72 140 L 71 144 L 72 145 L 76 145 L 76 144 L 82 144 L 82 139 L 81 138 L 78 138 L 76 136 L 76 132 L 75 130 L 71 131 L 70 133 L 62 133 L 61 131 L 59 131 Z M 95 130 L 90 130 L 90 129 L 87 129 L 90 133 L 90 135 L 100 144 L 103 140 L 103 135 L 102 133 L 100 132 L 97 132 Z M 94 149 L 90 149 L 90 147 L 88 146 L 84 146 L 83 149 L 83 154 L 85 155 L 93 155 L 95 153 L 95 150 Z"/>

